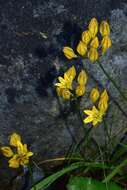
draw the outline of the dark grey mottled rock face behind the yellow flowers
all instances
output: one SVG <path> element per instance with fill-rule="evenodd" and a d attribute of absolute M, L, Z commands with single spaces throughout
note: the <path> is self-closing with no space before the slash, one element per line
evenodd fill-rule
<path fill-rule="evenodd" d="M 12 132 L 19 133 L 35 153 L 34 159 L 64 155 L 73 141 L 81 137 L 79 120 L 73 113 L 61 116 L 53 82 L 62 64 L 64 45 L 75 46 L 91 17 L 109 19 L 113 46 L 101 60 L 127 95 L 127 4 L 125 0 L 8 0 L 0 2 L 0 143 L 8 143 Z M 75 64 L 71 61 L 70 65 Z M 84 66 L 107 86 L 112 101 L 107 115 L 113 134 L 126 130 L 126 102 L 104 77 L 97 65 Z M 107 83 L 108 82 L 108 83 Z M 91 80 L 90 87 L 96 84 Z M 114 99 L 117 101 L 114 104 Z M 85 99 L 84 99 L 85 100 Z M 84 102 L 83 100 L 83 102 Z M 64 105 L 64 106 L 68 106 Z M 82 103 L 83 106 L 83 103 Z M 117 108 L 117 109 L 116 109 Z M 101 141 L 103 131 L 95 131 Z M 118 139 L 119 139 L 118 138 Z M 118 141 L 118 139 L 116 141 Z M 4 162 L 4 163 L 3 163 Z M 7 171 L 1 158 L 0 184 L 15 175 Z"/>

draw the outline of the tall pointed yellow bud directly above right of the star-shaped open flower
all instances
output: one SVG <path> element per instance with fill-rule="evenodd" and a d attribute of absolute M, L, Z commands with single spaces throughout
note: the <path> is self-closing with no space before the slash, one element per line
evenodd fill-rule
<path fill-rule="evenodd" d="M 98 103 L 98 109 L 105 114 L 105 112 L 107 111 L 108 108 L 108 100 L 109 100 L 109 96 L 106 90 L 104 90 L 100 96 L 100 100 Z"/>

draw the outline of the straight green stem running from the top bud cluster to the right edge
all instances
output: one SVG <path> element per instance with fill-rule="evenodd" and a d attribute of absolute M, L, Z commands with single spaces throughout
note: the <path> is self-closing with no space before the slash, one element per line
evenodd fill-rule
<path fill-rule="evenodd" d="M 108 72 L 104 69 L 103 65 L 100 63 L 100 61 L 97 62 L 101 70 L 104 72 L 104 74 L 107 76 L 107 78 L 110 80 L 110 82 L 114 85 L 114 87 L 118 90 L 122 98 L 127 101 L 127 97 L 124 95 L 124 93 L 121 91 L 119 86 L 116 84 L 114 79 L 108 74 Z"/>

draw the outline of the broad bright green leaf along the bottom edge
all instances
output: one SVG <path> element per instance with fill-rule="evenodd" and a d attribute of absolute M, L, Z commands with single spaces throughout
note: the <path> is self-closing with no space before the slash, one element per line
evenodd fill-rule
<path fill-rule="evenodd" d="M 104 184 L 88 177 L 71 177 L 67 190 L 123 190 L 115 183 Z"/>

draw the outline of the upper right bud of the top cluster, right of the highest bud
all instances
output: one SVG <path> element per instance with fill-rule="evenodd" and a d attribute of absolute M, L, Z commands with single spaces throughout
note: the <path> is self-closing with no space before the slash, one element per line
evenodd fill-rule
<path fill-rule="evenodd" d="M 102 36 L 109 36 L 110 35 L 110 27 L 108 22 L 102 21 L 100 24 L 100 33 Z"/>

